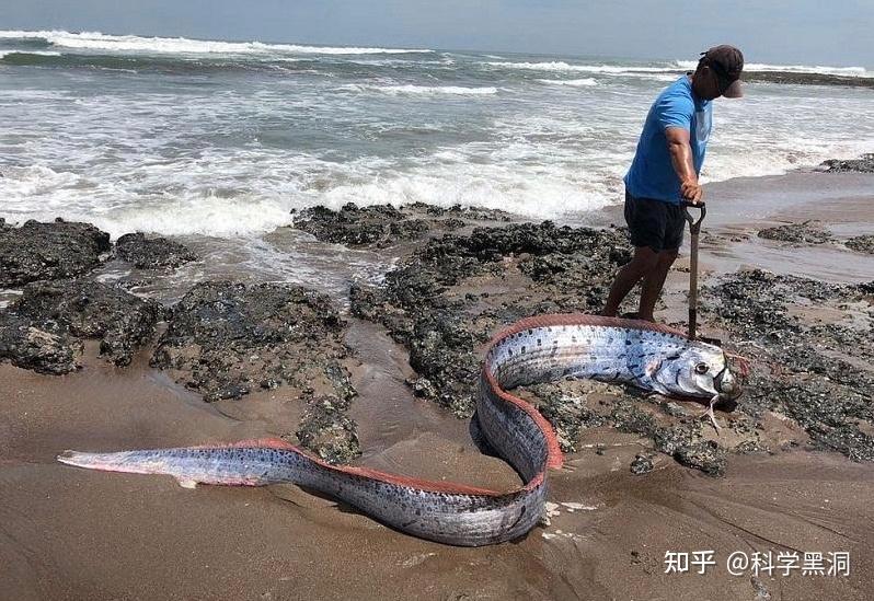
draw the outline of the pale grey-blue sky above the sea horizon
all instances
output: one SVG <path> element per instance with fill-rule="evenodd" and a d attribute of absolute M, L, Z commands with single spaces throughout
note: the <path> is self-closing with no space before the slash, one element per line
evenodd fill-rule
<path fill-rule="evenodd" d="M 0 0 L 0 28 L 874 68 L 874 0 Z"/>

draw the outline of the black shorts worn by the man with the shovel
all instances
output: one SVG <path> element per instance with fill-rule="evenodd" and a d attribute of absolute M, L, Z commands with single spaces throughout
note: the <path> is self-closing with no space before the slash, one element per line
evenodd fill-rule
<path fill-rule="evenodd" d="M 679 204 L 636 198 L 625 190 L 625 222 L 635 247 L 648 246 L 658 253 L 682 244 L 686 216 Z"/>

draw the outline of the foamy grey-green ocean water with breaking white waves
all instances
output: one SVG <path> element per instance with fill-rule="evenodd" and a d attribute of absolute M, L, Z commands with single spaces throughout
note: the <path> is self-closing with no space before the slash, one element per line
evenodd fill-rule
<path fill-rule="evenodd" d="M 561 219 L 621 201 L 649 104 L 693 66 L 0 32 L 0 217 L 219 238 L 348 201 Z M 716 101 L 706 181 L 874 150 L 872 90 L 746 90 Z"/>

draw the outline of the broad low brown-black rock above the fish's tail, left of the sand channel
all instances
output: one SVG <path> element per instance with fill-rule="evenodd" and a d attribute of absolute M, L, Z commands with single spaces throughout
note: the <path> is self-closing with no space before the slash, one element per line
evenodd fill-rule
<path fill-rule="evenodd" d="M 206 401 L 289 384 L 303 394 L 354 394 L 337 362 L 345 322 L 327 297 L 300 286 L 207 281 L 173 308 L 152 365 Z"/>

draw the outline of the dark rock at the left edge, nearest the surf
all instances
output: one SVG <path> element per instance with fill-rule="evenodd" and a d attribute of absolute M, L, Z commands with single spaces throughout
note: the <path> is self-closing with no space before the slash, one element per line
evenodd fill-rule
<path fill-rule="evenodd" d="M 0 286 L 16 287 L 41 279 L 73 278 L 100 263 L 110 250 L 110 234 L 89 223 L 27 221 L 0 227 Z"/>

